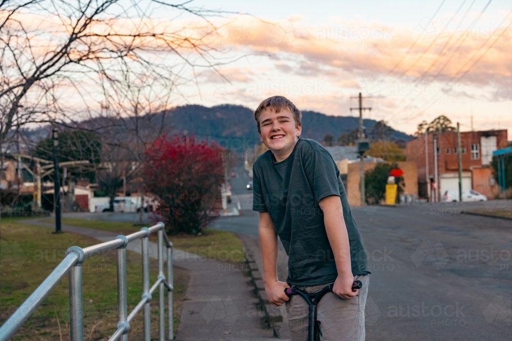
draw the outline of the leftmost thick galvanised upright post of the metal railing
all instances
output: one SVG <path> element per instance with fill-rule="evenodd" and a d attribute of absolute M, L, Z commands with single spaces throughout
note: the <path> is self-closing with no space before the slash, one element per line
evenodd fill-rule
<path fill-rule="evenodd" d="M 78 261 L 69 271 L 69 325 L 70 340 L 83 341 L 82 262 L 83 250 L 73 246 L 68 252 L 78 253 Z"/>

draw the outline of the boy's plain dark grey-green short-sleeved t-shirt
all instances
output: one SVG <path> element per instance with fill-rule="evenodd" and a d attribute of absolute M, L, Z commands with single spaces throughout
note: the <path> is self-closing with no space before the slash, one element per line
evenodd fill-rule
<path fill-rule="evenodd" d="M 272 152 L 252 167 L 252 210 L 268 212 L 288 259 L 288 279 L 295 285 L 334 282 L 336 264 L 318 202 L 329 195 L 342 201 L 350 242 L 352 274 L 368 275 L 367 257 L 352 217 L 347 193 L 331 154 L 313 140 L 299 139 L 286 160 L 276 163 Z"/>

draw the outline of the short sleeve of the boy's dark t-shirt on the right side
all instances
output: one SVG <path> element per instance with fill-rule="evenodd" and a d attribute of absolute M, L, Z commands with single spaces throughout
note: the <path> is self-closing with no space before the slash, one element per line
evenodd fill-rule
<path fill-rule="evenodd" d="M 331 154 L 313 150 L 307 159 L 305 171 L 316 202 L 330 195 L 339 196 L 338 173 Z"/>

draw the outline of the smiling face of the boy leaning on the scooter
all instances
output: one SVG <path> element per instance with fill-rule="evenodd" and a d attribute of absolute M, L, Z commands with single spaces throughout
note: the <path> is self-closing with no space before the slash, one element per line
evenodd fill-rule
<path fill-rule="evenodd" d="M 278 162 L 291 154 L 302 132 L 302 127 L 296 125 L 289 109 L 279 113 L 271 108 L 263 110 L 260 114 L 260 129 L 261 141 Z"/>

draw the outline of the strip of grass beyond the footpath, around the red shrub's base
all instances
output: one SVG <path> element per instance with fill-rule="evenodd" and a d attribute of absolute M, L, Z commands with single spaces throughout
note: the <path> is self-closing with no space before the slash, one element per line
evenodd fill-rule
<path fill-rule="evenodd" d="M 45 219 L 43 221 L 55 222 L 54 219 Z M 135 225 L 131 222 L 98 221 L 80 218 L 63 218 L 62 224 L 119 234 L 131 234 L 139 231 L 141 228 L 139 224 Z M 156 234 L 150 237 L 152 241 L 156 241 L 156 238 Z M 229 263 L 245 262 L 242 241 L 231 232 L 207 229 L 203 231 L 201 236 L 169 236 L 169 240 L 173 242 L 174 247 L 200 256 Z"/>

